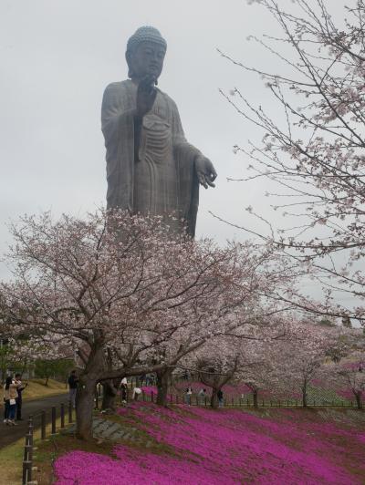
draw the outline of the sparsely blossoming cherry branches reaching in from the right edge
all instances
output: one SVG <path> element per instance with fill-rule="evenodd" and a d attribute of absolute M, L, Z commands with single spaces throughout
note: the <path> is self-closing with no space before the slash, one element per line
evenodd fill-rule
<path fill-rule="evenodd" d="M 297 261 L 323 285 L 327 304 L 313 304 L 295 292 L 282 294 L 284 299 L 323 315 L 363 321 L 365 308 L 357 302 L 365 297 L 365 4 L 348 0 L 339 18 L 330 0 L 249 4 L 266 9 L 280 34 L 249 37 L 275 59 L 275 73 L 222 53 L 261 77 L 275 103 L 272 110 L 256 107 L 239 88 L 223 93 L 263 134 L 261 142 L 236 145 L 235 152 L 251 160 L 251 174 L 243 180 L 266 179 L 275 211 L 266 221 L 268 232 L 244 229 Z M 247 211 L 255 214 L 251 206 Z M 282 227 L 277 227 L 279 213 L 289 219 Z M 344 309 L 332 296 L 338 291 L 357 300 Z"/>

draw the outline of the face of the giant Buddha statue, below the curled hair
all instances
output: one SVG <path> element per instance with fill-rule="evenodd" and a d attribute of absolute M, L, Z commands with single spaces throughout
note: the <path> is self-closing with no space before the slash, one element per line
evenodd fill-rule
<path fill-rule="evenodd" d="M 155 82 L 162 73 L 166 49 L 161 43 L 143 41 L 133 50 L 127 51 L 126 59 L 132 80 L 140 81 L 143 77 L 154 77 Z"/>

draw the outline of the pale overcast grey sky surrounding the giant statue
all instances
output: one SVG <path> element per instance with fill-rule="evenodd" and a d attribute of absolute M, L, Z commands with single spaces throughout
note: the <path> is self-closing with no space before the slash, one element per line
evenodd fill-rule
<path fill-rule="evenodd" d="M 0 253 L 10 242 L 5 223 L 20 214 L 83 214 L 104 204 L 102 93 L 127 77 L 125 46 L 143 25 L 166 38 L 159 86 L 176 101 L 187 138 L 219 175 L 216 189 L 201 190 L 198 236 L 246 237 L 209 211 L 234 222 L 245 222 L 248 205 L 266 211 L 264 182 L 226 181 L 242 176 L 248 164 L 233 146 L 259 135 L 218 88 L 240 88 L 254 104 L 270 103 L 270 96 L 255 76 L 216 52 L 248 65 L 273 63 L 246 41 L 276 33 L 262 8 L 245 0 L 0 0 Z"/>

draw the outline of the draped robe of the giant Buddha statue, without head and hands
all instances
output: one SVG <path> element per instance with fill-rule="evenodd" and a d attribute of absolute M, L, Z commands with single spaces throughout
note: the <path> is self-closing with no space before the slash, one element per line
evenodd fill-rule
<path fill-rule="evenodd" d="M 176 104 L 160 89 L 136 134 L 136 97 L 137 85 L 130 79 L 104 92 L 108 208 L 160 215 L 172 230 L 193 236 L 199 202 L 194 160 L 201 153 L 186 141 Z M 135 136 L 140 136 L 138 153 Z"/>

